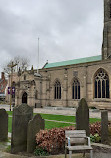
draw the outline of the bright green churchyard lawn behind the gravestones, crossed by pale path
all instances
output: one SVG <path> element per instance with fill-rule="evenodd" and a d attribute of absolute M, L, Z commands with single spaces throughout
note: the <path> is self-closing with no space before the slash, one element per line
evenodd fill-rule
<path fill-rule="evenodd" d="M 12 130 L 12 111 L 7 111 L 8 118 L 8 132 Z M 36 115 L 34 113 L 34 115 Z M 40 114 L 45 119 L 45 129 L 74 126 L 76 120 L 75 116 L 53 115 L 53 114 Z M 56 122 L 57 121 L 57 122 Z M 90 123 L 101 121 L 98 118 L 90 118 Z"/>

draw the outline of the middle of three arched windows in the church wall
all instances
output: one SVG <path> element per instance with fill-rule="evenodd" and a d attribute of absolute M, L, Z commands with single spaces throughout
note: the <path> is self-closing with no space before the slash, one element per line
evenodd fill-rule
<path fill-rule="evenodd" d="M 72 84 L 72 99 L 80 99 L 80 82 L 77 78 L 74 79 Z"/>

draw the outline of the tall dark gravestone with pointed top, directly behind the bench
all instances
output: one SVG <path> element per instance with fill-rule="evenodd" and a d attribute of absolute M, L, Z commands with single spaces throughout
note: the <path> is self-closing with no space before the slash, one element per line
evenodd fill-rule
<path fill-rule="evenodd" d="M 82 98 L 76 111 L 76 129 L 86 130 L 86 135 L 90 135 L 89 130 L 89 108 L 87 102 Z"/>

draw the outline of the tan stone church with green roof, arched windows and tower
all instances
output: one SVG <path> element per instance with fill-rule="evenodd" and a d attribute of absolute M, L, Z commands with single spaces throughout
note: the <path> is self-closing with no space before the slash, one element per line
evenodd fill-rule
<path fill-rule="evenodd" d="M 104 0 L 101 55 L 19 71 L 13 84 L 15 105 L 76 107 L 86 98 L 89 106 L 111 109 L 111 0 Z"/>

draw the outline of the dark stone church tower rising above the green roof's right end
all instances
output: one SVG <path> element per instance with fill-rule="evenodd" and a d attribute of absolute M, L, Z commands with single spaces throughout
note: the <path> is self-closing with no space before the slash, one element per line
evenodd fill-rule
<path fill-rule="evenodd" d="M 111 0 L 104 0 L 102 59 L 111 58 Z"/>

